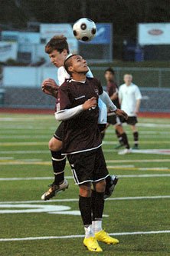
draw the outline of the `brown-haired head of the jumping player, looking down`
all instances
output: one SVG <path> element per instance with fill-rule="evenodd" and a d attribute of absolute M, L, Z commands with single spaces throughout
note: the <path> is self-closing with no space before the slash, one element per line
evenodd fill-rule
<path fill-rule="evenodd" d="M 45 45 L 45 52 L 49 55 L 51 63 L 57 68 L 63 66 L 64 60 L 69 54 L 67 38 L 64 35 L 55 35 Z"/>

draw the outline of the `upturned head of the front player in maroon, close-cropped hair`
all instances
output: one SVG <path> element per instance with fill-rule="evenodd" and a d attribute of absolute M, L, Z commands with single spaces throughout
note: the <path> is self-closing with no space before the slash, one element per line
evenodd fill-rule
<path fill-rule="evenodd" d="M 80 55 L 70 55 L 65 59 L 64 68 L 67 73 L 71 76 L 76 74 L 87 74 L 89 68 L 87 66 L 87 61 L 83 59 Z"/>

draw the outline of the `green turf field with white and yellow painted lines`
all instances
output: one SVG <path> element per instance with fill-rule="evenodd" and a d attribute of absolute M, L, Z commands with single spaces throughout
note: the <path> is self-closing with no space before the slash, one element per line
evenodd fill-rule
<path fill-rule="evenodd" d="M 53 180 L 47 144 L 57 127 L 54 116 L 1 114 L 0 121 L 0 256 L 94 254 L 83 247 L 78 188 L 68 164 L 69 189 L 41 201 Z M 119 183 L 106 201 L 103 228 L 119 244 L 100 244 L 101 255 L 170 255 L 170 121 L 140 118 L 139 135 L 141 150 L 166 149 L 167 155 L 118 155 L 115 133 L 108 129 L 103 151 Z"/>

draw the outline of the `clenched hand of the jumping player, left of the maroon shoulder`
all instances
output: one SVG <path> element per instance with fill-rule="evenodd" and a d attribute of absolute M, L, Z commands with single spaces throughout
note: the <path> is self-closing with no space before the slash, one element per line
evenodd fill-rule
<path fill-rule="evenodd" d="M 42 91 L 44 91 L 44 93 L 46 93 L 47 95 L 57 97 L 57 89 L 59 88 L 59 86 L 56 84 L 54 79 L 45 79 L 41 84 L 41 88 Z"/>

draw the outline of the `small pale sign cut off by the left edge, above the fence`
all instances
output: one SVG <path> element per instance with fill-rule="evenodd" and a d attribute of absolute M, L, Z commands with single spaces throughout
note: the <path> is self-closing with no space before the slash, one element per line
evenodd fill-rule
<path fill-rule="evenodd" d="M 9 58 L 17 59 L 18 44 L 15 42 L 0 42 L 0 62 L 6 62 Z"/>

